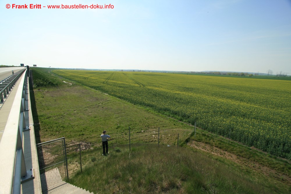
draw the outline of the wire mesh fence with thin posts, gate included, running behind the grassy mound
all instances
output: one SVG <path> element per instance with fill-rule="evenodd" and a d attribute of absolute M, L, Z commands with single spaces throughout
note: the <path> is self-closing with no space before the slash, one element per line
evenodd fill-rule
<path fill-rule="evenodd" d="M 159 144 L 161 146 L 179 147 L 186 139 L 194 133 L 189 129 L 168 129 L 149 128 L 146 130 L 136 130 L 128 128 L 120 137 L 114 137 L 114 132 L 109 135 L 108 154 L 118 154 L 119 152 L 132 151 L 140 144 Z M 84 166 L 88 166 L 96 160 L 102 159 L 103 147 L 100 138 L 99 146 L 94 149 L 88 142 L 69 142 L 65 144 L 65 138 L 52 140 L 37 144 L 38 159 L 40 166 L 40 177 L 42 190 L 47 192 L 53 188 L 65 184 L 70 174 L 82 172 L 82 157 Z M 82 156 L 82 152 L 86 154 Z M 106 146 L 105 146 L 105 152 Z M 71 176 L 71 175 L 70 175 Z"/>

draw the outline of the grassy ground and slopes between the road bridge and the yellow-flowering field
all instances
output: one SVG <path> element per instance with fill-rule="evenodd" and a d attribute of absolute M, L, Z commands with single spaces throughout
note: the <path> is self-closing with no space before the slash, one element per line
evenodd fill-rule
<path fill-rule="evenodd" d="M 49 69 L 33 72 L 34 78 L 37 74 L 49 80 L 53 76 Z M 228 144 L 225 138 L 200 129 L 196 138 L 189 137 L 192 126 L 80 85 L 65 84 L 57 77 L 54 80 L 57 82 L 51 87 L 34 90 L 40 139 L 43 142 L 65 136 L 67 142 L 92 143 L 93 150 L 82 151 L 83 173 L 76 168 L 78 154 L 69 156 L 70 181 L 78 186 L 95 193 L 290 192 L 291 168 L 287 161 L 236 142 Z M 111 149 L 109 157 L 102 157 L 100 131 L 105 128 L 114 137 L 112 142 L 125 143 L 128 126 L 132 126 L 133 142 L 156 143 L 157 127 L 161 127 L 162 144 L 174 145 L 178 132 L 184 134 L 181 142 L 189 137 L 188 143 L 179 149 L 136 145 L 131 152 L 124 149 L 116 154 Z M 97 160 L 92 162 L 92 157 Z M 260 170 L 264 168 L 272 174 Z"/>

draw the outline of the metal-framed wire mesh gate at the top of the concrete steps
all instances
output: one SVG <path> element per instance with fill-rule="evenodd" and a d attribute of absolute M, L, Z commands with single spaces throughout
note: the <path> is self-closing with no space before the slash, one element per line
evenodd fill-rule
<path fill-rule="evenodd" d="M 65 184 L 68 162 L 65 137 L 36 145 L 43 193 Z"/>

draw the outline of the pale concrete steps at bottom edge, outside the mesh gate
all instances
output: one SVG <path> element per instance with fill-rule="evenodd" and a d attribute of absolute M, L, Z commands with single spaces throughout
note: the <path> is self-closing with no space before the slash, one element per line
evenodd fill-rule
<path fill-rule="evenodd" d="M 65 183 L 62 186 L 59 186 L 57 188 L 54 188 L 47 193 L 61 193 L 61 194 L 90 194 L 89 191 L 86 191 L 85 189 L 76 187 L 74 185 L 71 185 L 69 183 Z M 94 193 L 91 193 L 94 194 Z"/>

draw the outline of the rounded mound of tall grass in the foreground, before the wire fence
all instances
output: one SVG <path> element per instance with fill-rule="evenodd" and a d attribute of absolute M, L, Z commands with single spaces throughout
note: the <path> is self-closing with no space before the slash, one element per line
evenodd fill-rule
<path fill-rule="evenodd" d="M 69 182 L 94 193 L 288 193 L 290 189 L 186 148 L 133 147 L 131 152 L 106 157 L 100 151 L 86 152 L 83 172 L 70 176 Z"/>

